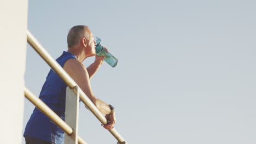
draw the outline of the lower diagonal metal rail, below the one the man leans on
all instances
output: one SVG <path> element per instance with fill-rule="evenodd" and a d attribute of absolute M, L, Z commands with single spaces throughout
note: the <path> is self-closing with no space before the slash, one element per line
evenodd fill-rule
<path fill-rule="evenodd" d="M 24 87 L 25 97 L 34 104 L 37 109 L 42 111 L 45 116 L 51 119 L 56 125 L 58 125 L 65 133 L 71 135 L 73 129 L 64 122 L 53 110 L 50 109 L 42 100 L 40 100 L 36 95 L 34 95 L 27 87 Z M 87 144 L 80 136 L 78 136 L 78 143 Z"/>

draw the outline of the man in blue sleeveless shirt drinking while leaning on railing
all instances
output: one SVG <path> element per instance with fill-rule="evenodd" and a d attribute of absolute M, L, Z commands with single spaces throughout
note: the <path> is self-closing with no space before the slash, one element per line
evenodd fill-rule
<path fill-rule="evenodd" d="M 103 127 L 108 130 L 112 129 L 116 122 L 114 107 L 97 99 L 90 86 L 90 79 L 102 65 L 104 57 L 96 56 L 95 62 L 87 69 L 82 63 L 85 58 L 96 55 L 94 35 L 87 26 L 74 26 L 68 33 L 67 44 L 68 51 L 64 51 L 56 61 L 84 91 L 97 109 L 106 115 L 108 124 Z M 39 98 L 62 119 L 65 119 L 66 87 L 66 83 L 53 70 L 50 70 L 39 95 Z M 24 137 L 26 144 L 57 144 L 63 143 L 64 132 L 36 107 L 26 125 Z"/>

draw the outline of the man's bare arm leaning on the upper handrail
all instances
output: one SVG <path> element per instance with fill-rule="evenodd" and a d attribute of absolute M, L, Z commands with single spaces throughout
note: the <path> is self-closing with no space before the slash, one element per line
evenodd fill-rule
<path fill-rule="evenodd" d="M 89 74 L 86 68 L 82 63 L 80 63 L 77 59 L 68 59 L 68 61 L 64 64 L 63 69 L 72 77 L 72 79 L 77 83 L 77 85 L 84 91 L 87 97 L 95 104 L 98 110 L 101 113 L 106 115 L 109 123 L 104 125 L 106 129 L 112 129 L 115 123 L 115 113 L 111 116 L 108 114 L 111 112 L 110 106 L 97 99 L 92 93 Z"/>

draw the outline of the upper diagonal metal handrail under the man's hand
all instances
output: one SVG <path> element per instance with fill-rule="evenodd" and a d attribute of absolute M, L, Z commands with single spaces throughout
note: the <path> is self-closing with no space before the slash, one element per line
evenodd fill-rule
<path fill-rule="evenodd" d="M 44 49 L 44 47 L 38 42 L 38 40 L 28 31 L 27 29 L 27 42 L 30 44 L 33 49 L 44 59 L 46 63 L 55 71 L 61 79 L 67 83 L 67 86 L 75 89 L 75 86 L 78 86 L 77 83 L 66 73 L 66 71 L 60 66 L 59 63 L 55 61 L 53 57 Z M 88 107 L 88 109 L 96 116 L 96 118 L 104 125 L 106 125 L 107 119 L 101 114 L 97 107 L 91 102 L 91 100 L 86 96 L 86 94 L 80 89 L 80 100 Z M 74 91 L 74 93 L 77 93 Z M 118 140 L 119 143 L 126 143 L 124 138 L 118 133 L 114 128 L 109 130 L 109 132 Z"/>

